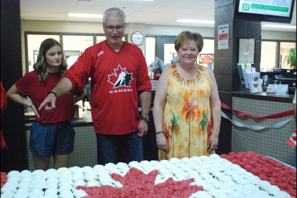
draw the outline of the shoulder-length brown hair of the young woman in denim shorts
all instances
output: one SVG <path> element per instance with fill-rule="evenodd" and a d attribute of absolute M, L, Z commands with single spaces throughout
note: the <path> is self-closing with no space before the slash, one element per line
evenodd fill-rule
<path fill-rule="evenodd" d="M 40 81 L 45 82 L 48 76 L 47 71 L 47 62 L 45 58 L 45 54 L 47 50 L 54 47 L 55 45 L 58 45 L 62 50 L 62 63 L 59 67 L 59 72 L 61 76 L 67 71 L 67 61 L 64 58 L 64 52 L 62 45 L 53 38 L 48 38 L 42 41 L 40 47 L 39 47 L 39 54 L 37 56 L 36 63 L 34 63 L 33 68 L 39 78 Z"/>

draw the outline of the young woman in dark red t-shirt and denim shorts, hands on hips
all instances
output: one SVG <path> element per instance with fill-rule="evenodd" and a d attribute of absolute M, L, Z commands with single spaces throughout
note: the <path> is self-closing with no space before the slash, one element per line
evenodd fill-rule
<path fill-rule="evenodd" d="M 31 107 L 35 113 L 29 140 L 35 169 L 49 169 L 51 156 L 54 158 L 55 169 L 68 167 L 70 153 L 74 149 L 75 131 L 71 124 L 74 104 L 86 95 L 86 90 L 69 91 L 60 97 L 57 100 L 60 108 L 54 113 L 37 110 L 36 107 L 67 70 L 61 44 L 53 38 L 42 41 L 33 68 L 34 71 L 26 73 L 11 86 L 7 95 L 15 102 Z M 24 98 L 27 96 L 32 101 Z"/>

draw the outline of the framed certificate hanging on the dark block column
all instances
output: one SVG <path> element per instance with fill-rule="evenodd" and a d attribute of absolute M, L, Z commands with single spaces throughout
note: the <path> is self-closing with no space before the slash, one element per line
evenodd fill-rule
<path fill-rule="evenodd" d="M 254 38 L 239 38 L 238 63 L 255 64 Z"/>

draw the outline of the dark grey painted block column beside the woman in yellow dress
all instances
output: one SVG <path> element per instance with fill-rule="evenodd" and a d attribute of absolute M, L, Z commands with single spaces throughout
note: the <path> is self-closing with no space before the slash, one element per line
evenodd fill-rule
<path fill-rule="evenodd" d="M 239 38 L 255 38 L 256 71 L 260 71 L 261 23 L 233 18 L 235 1 L 215 0 L 214 26 L 214 76 L 217 81 L 220 100 L 232 108 L 232 92 L 246 90 L 240 84 L 237 69 Z M 218 49 L 218 26 L 229 24 L 229 48 Z M 229 118 L 230 111 L 222 109 Z M 232 124 L 222 118 L 217 154 L 231 152 Z"/>

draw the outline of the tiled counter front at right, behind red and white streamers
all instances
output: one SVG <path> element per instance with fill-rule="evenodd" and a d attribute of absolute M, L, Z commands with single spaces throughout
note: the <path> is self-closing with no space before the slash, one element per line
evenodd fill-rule
<path fill-rule="evenodd" d="M 292 110 L 293 104 L 289 102 L 233 97 L 233 109 L 242 111 L 245 114 L 262 117 Z M 232 119 L 244 125 L 274 126 L 292 117 L 294 116 L 276 119 L 253 119 L 247 117 L 243 118 L 233 114 Z M 295 128 L 295 120 L 287 123 L 280 129 L 265 128 L 257 131 L 232 125 L 232 152 L 254 151 L 261 155 L 276 158 L 291 166 L 296 166 L 295 148 L 292 148 L 286 143 Z"/>

